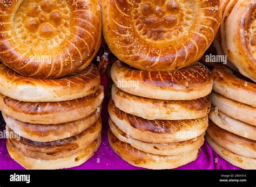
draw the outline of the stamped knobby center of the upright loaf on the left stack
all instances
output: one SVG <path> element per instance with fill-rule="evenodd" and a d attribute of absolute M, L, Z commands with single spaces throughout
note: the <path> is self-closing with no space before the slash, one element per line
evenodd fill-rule
<path fill-rule="evenodd" d="M 64 0 L 27 0 L 14 17 L 19 39 L 35 51 L 58 47 L 70 34 L 71 11 Z"/>

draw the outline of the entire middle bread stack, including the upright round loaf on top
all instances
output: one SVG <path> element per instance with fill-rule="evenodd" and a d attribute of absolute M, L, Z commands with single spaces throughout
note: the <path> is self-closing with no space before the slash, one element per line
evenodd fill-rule
<path fill-rule="evenodd" d="M 109 142 L 122 159 L 172 169 L 197 159 L 211 107 L 210 71 L 197 61 L 220 23 L 218 1 L 103 1 L 111 68 Z"/>

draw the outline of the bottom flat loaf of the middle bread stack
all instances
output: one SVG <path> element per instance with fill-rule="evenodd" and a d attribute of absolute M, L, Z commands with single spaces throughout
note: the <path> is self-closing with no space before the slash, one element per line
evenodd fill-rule
<path fill-rule="evenodd" d="M 120 141 L 109 130 L 109 143 L 111 148 L 126 162 L 136 167 L 147 169 L 173 169 L 183 166 L 197 159 L 199 150 L 191 153 L 175 156 L 154 155 L 132 147 L 130 144 Z"/>

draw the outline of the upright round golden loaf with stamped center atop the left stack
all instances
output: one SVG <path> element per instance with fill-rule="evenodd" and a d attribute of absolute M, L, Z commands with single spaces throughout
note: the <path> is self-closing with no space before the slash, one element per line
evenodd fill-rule
<path fill-rule="evenodd" d="M 0 4 L 0 60 L 23 76 L 59 78 L 86 68 L 98 51 L 97 0 Z"/>

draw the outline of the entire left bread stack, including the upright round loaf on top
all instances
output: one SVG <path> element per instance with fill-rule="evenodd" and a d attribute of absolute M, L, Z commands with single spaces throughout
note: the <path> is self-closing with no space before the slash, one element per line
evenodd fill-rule
<path fill-rule="evenodd" d="M 10 156 L 26 169 L 79 166 L 98 149 L 102 130 L 104 93 L 91 63 L 100 45 L 97 1 L 6 1 L 0 9 L 0 110 Z"/>

